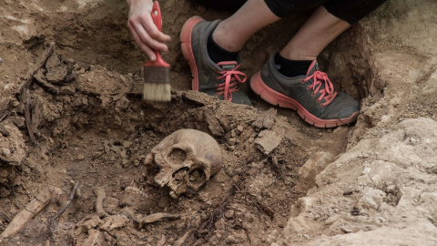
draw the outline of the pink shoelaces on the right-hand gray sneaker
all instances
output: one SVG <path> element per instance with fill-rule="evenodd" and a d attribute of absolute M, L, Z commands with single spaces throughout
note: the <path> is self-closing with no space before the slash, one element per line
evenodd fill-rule
<path fill-rule="evenodd" d="M 308 89 L 313 89 L 314 92 L 312 93 L 312 96 L 316 96 L 316 93 L 320 92 L 320 97 L 317 98 L 317 102 L 320 102 L 321 99 L 325 99 L 325 102 L 320 104 L 321 108 L 326 107 L 330 104 L 330 102 L 337 96 L 337 92 L 334 91 L 334 86 L 332 85 L 332 82 L 330 82 L 330 78 L 326 73 L 320 72 L 319 70 L 316 70 L 312 75 L 309 77 L 306 77 L 302 80 L 302 83 L 307 82 L 310 79 L 313 79 L 312 86 L 307 87 Z M 320 89 L 322 82 L 325 82 L 325 87 L 323 89 Z M 326 96 L 325 96 L 326 95 Z"/>

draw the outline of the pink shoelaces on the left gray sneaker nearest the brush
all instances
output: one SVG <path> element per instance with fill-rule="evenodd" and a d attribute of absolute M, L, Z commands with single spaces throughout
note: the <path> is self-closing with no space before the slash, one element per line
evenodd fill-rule
<path fill-rule="evenodd" d="M 223 63 L 223 64 L 226 64 Z M 219 66 L 222 63 L 218 64 Z M 224 79 L 224 83 L 216 85 L 216 95 L 223 95 L 225 100 L 232 101 L 232 92 L 239 91 L 239 83 L 246 82 L 248 78 L 243 72 L 238 71 L 239 65 L 235 66 L 231 70 L 218 71 L 220 76 L 217 79 Z"/>

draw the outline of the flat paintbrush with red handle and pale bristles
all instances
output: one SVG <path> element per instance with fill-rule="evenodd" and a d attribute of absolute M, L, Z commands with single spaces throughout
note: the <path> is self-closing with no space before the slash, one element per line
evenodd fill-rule
<path fill-rule="evenodd" d="M 161 31 L 162 18 L 158 1 L 152 6 L 153 23 Z M 143 99 L 145 101 L 169 102 L 171 100 L 170 82 L 168 79 L 169 65 L 162 59 L 158 50 L 154 50 L 157 59 L 144 64 Z"/>

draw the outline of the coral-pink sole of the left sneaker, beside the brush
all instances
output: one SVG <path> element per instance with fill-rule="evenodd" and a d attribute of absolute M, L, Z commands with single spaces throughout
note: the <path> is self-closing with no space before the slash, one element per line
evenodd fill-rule
<path fill-rule="evenodd" d="M 182 26 L 180 31 L 180 47 L 186 60 L 188 60 L 189 68 L 191 69 L 191 75 L 193 80 L 191 81 L 192 90 L 198 90 L 198 66 L 196 65 L 196 59 L 194 58 L 193 47 L 191 46 L 191 34 L 194 26 L 199 22 L 204 21 L 200 16 L 193 16 Z"/>

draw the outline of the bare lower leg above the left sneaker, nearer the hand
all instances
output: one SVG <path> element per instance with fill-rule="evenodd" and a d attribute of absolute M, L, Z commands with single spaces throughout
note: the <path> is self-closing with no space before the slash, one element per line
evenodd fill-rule
<path fill-rule="evenodd" d="M 234 15 L 220 22 L 212 37 L 222 48 L 230 52 L 239 51 L 262 27 L 279 19 L 264 0 L 249 0 Z"/>

